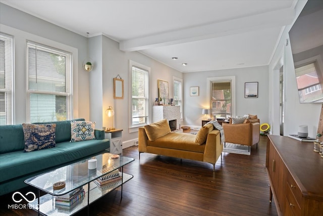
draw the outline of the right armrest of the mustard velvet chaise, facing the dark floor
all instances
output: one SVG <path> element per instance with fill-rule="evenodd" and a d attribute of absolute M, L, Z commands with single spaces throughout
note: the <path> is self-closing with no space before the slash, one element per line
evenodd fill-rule
<path fill-rule="evenodd" d="M 221 145 L 220 141 L 220 131 L 213 129 L 213 131 L 208 133 L 206 138 L 203 161 L 213 164 L 216 163 L 222 150 L 223 145 Z"/>

